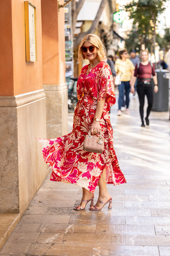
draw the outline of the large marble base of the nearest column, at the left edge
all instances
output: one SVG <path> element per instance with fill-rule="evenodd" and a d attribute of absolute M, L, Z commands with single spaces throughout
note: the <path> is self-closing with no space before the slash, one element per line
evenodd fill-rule
<path fill-rule="evenodd" d="M 22 215 L 48 175 L 35 137 L 46 138 L 44 90 L 0 96 L 0 213 Z"/>

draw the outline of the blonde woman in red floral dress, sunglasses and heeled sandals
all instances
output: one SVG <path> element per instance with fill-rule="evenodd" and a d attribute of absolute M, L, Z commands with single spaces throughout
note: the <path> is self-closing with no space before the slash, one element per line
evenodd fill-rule
<path fill-rule="evenodd" d="M 125 183 L 113 148 L 113 131 L 109 109 L 115 103 L 113 77 L 104 58 L 102 42 L 96 35 L 86 35 L 80 44 L 78 61 L 89 60 L 77 81 L 78 103 L 74 112 L 73 131 L 53 140 L 40 140 L 45 162 L 51 167 L 51 180 L 74 183 L 82 187 L 81 203 L 75 210 L 100 210 L 111 196 L 106 183 Z M 85 135 L 102 132 L 105 147 L 102 154 L 82 150 Z M 99 198 L 93 205 L 94 190 L 99 185 Z"/>

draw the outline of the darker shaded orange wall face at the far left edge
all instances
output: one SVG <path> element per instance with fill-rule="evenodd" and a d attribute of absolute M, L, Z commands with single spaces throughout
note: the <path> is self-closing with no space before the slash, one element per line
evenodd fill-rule
<path fill-rule="evenodd" d="M 0 10 L 0 96 L 10 96 L 14 95 L 11 0 L 0 0 Z"/>

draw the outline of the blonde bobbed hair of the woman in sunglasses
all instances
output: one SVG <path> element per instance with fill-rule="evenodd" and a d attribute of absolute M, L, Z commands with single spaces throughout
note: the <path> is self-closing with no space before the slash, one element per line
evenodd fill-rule
<path fill-rule="evenodd" d="M 77 61 L 80 62 L 80 61 L 82 61 L 82 59 L 85 60 L 85 56 L 83 55 L 82 49 L 81 49 L 81 47 L 83 46 L 83 44 L 85 42 L 89 42 L 89 43 L 93 44 L 95 47 L 97 47 L 97 58 L 99 61 L 102 61 L 102 59 L 105 57 L 105 47 L 102 44 L 102 41 L 100 40 L 100 38 L 94 34 L 85 35 L 85 37 L 82 39 L 82 41 L 79 45 Z"/>

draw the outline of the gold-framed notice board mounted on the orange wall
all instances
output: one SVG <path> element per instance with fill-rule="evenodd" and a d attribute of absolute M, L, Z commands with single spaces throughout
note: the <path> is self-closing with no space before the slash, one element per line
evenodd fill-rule
<path fill-rule="evenodd" d="M 36 7 L 28 1 L 25 7 L 26 61 L 37 61 Z"/>

